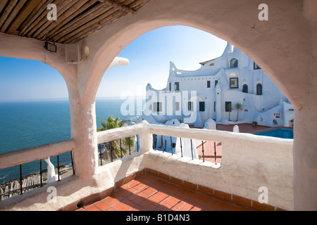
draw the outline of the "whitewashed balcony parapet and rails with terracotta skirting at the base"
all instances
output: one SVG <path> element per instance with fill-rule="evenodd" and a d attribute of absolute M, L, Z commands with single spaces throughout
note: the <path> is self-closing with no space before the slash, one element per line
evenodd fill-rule
<path fill-rule="evenodd" d="M 177 150 L 180 148 L 180 141 L 175 143 L 175 150 L 171 153 L 154 150 L 154 134 L 176 137 L 177 140 L 221 143 L 221 162 L 183 155 Z M 92 162 L 86 168 L 87 171 L 94 171 L 92 181 L 77 176 L 76 168 L 80 166 L 80 162 L 74 158 L 74 175 L 2 200 L 0 210 L 77 210 L 126 188 L 130 185 L 129 182 L 147 177 L 162 179 L 180 188 L 211 195 L 212 198 L 221 197 L 231 203 L 235 203 L 237 199 L 243 200 L 251 209 L 262 205 L 262 209 L 269 207 L 271 210 L 293 210 L 292 140 L 142 122 L 130 127 L 98 132 L 97 143 L 136 135 L 139 136 L 137 151 L 101 166 Z M 69 151 L 76 151 L 73 139 L 1 154 L 0 169 Z M 95 155 L 98 159 L 97 146 Z M 49 187 L 52 186 L 56 188 L 56 196 L 50 202 Z M 263 190 L 267 190 L 267 193 Z M 266 194 L 268 203 L 259 203 L 263 194 Z"/>

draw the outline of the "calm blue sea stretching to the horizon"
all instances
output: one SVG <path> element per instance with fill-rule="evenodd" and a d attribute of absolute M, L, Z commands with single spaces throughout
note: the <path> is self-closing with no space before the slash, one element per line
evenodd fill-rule
<path fill-rule="evenodd" d="M 121 105 L 127 101 L 121 98 L 97 98 L 96 122 L 108 115 L 128 120 L 128 125 L 139 122 L 142 109 L 135 107 L 134 113 L 121 113 Z M 142 100 L 144 101 L 144 100 Z M 123 115 L 124 114 L 124 115 Z M 70 106 L 68 99 L 38 101 L 2 101 L 0 102 L 0 154 L 23 148 L 40 146 L 46 143 L 65 141 L 70 135 Z M 50 159 L 57 167 L 57 157 Z M 59 164 L 71 166 L 70 153 L 59 155 Z M 22 175 L 39 172 L 39 161 L 22 165 Z M 42 169 L 46 162 L 42 161 Z M 20 176 L 20 167 L 0 169 L 0 184 Z"/>

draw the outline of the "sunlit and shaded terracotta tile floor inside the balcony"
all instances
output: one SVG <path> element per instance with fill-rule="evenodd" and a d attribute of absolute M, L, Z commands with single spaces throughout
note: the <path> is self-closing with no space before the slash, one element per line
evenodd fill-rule
<path fill-rule="evenodd" d="M 146 174 L 77 211 L 251 211 Z"/>

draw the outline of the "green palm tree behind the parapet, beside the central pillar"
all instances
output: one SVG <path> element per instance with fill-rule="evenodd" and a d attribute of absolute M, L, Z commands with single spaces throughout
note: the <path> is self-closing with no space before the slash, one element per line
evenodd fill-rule
<path fill-rule="evenodd" d="M 105 131 L 107 129 L 114 129 L 114 128 L 127 126 L 127 124 L 122 122 L 119 117 L 115 118 L 111 115 L 108 116 L 107 121 L 101 120 L 100 123 L 102 127 L 98 127 L 97 132 Z M 121 153 L 123 153 L 123 155 L 127 155 L 128 149 L 134 146 L 135 146 L 135 140 L 132 137 L 128 136 L 128 137 L 125 137 L 124 139 L 109 141 L 106 145 L 106 148 L 109 153 L 112 153 L 111 158 L 113 159 L 113 158 L 118 158 L 118 155 L 121 155 Z M 105 154 L 108 154 L 107 151 L 105 151 Z"/>

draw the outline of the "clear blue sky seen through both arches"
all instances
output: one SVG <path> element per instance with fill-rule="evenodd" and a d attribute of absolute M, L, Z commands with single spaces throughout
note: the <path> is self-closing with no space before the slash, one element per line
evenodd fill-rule
<path fill-rule="evenodd" d="M 200 62 L 221 56 L 226 44 L 192 27 L 147 32 L 119 53 L 129 65 L 107 70 L 96 97 L 120 97 L 125 91 L 145 95 L 148 83 L 163 89 L 170 61 L 181 70 L 197 70 Z M 35 60 L 0 57 L 0 101 L 47 98 L 68 98 L 66 83 L 54 68 Z"/>

